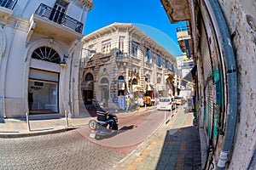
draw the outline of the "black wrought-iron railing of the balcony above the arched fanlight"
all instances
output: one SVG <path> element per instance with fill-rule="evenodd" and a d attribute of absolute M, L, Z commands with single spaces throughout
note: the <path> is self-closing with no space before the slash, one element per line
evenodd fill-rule
<path fill-rule="evenodd" d="M 79 22 L 78 20 L 74 20 L 67 14 L 62 13 L 55 8 L 50 8 L 49 6 L 41 3 L 40 6 L 37 8 L 35 14 L 38 16 L 51 20 L 55 23 L 60 24 L 61 26 L 67 26 L 68 28 L 72 29 L 73 31 L 82 33 L 83 31 L 83 23 Z"/>

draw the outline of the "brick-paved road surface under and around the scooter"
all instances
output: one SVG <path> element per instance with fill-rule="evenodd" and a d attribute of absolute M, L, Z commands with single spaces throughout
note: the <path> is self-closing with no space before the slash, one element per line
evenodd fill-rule
<path fill-rule="evenodd" d="M 119 116 L 121 131 L 88 138 L 88 127 L 44 136 L 0 139 L 0 169 L 112 169 L 163 122 L 163 112 Z"/>

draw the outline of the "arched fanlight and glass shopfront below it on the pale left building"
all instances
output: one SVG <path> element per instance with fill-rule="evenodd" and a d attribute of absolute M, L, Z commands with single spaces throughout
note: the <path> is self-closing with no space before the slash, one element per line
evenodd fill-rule
<path fill-rule="evenodd" d="M 36 48 L 32 59 L 40 63 L 45 70 L 30 68 L 28 77 L 28 109 L 30 114 L 59 112 L 59 72 L 47 71 L 48 63 L 59 65 L 60 55 L 53 48 Z"/>

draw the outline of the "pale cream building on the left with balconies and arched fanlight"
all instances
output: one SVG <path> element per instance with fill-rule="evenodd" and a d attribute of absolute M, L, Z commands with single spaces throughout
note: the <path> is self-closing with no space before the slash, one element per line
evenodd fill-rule
<path fill-rule="evenodd" d="M 79 54 L 91 8 L 92 0 L 0 1 L 1 118 L 79 113 Z"/>

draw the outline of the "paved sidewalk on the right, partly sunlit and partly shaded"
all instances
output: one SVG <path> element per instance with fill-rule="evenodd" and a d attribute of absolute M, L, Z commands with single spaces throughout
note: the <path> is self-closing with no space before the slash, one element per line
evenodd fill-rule
<path fill-rule="evenodd" d="M 194 113 L 179 109 L 170 122 L 114 169 L 201 169 L 201 143 Z"/>

